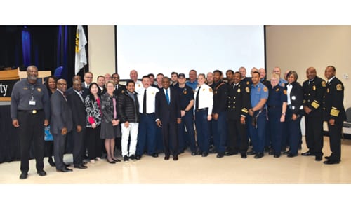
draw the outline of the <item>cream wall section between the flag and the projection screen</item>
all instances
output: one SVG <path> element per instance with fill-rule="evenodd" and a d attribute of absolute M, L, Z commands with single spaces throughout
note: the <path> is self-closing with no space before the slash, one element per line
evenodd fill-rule
<path fill-rule="evenodd" d="M 99 75 L 114 73 L 114 25 L 88 25 L 89 71 L 93 81 Z"/>

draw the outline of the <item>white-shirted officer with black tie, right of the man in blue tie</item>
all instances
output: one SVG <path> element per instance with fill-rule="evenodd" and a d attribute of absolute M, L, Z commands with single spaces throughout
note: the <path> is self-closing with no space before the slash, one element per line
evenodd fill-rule
<path fill-rule="evenodd" d="M 205 84 L 205 75 L 200 73 L 197 77 L 199 86 L 195 89 L 195 126 L 197 128 L 197 144 L 199 145 L 198 154 L 202 157 L 208 155 L 210 147 L 210 134 L 209 131 L 210 121 L 212 120 L 213 108 L 213 91 L 212 88 Z"/>

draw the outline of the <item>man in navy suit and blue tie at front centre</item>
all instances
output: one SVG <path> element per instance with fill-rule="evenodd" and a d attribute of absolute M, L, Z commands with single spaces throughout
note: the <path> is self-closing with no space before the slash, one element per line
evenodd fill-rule
<path fill-rule="evenodd" d="M 172 151 L 173 160 L 178 160 L 178 137 L 177 123 L 181 122 L 179 93 L 177 90 L 169 88 L 170 79 L 162 79 L 162 88 L 156 94 L 155 116 L 158 127 L 162 130 L 162 140 L 164 143 L 164 160 L 169 159 Z M 170 145 L 171 144 L 171 149 Z"/>

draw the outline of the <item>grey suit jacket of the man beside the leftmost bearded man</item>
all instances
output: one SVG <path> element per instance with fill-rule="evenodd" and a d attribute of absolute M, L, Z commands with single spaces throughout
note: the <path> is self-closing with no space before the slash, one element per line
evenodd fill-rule
<path fill-rule="evenodd" d="M 55 91 L 51 95 L 51 134 L 60 134 L 63 127 L 67 127 L 67 132 L 70 132 L 73 127 L 72 111 L 65 100 L 65 97 Z"/>

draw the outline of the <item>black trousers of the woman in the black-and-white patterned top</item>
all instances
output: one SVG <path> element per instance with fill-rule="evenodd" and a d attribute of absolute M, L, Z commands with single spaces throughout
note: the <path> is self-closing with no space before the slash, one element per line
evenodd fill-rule
<path fill-rule="evenodd" d="M 88 147 L 89 160 L 101 157 L 100 125 L 95 128 L 86 127 L 86 145 Z"/>

